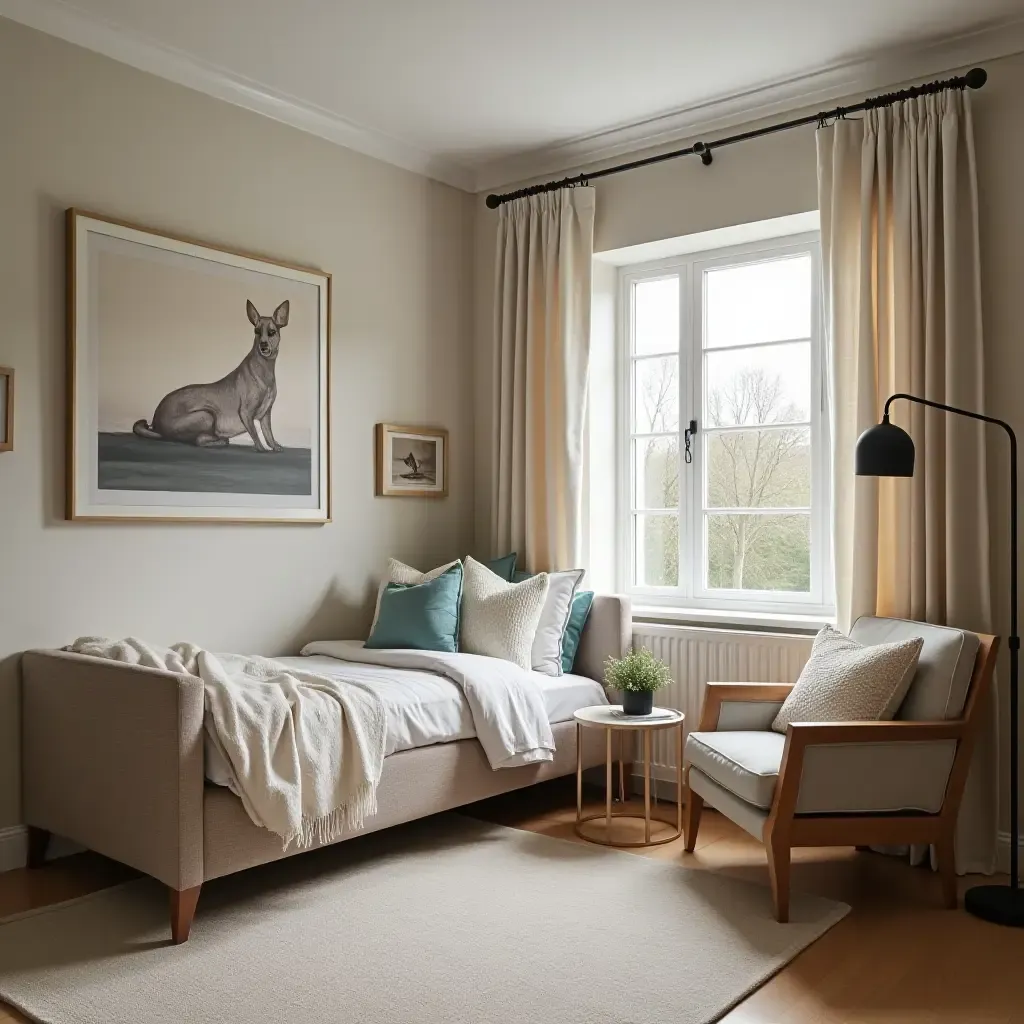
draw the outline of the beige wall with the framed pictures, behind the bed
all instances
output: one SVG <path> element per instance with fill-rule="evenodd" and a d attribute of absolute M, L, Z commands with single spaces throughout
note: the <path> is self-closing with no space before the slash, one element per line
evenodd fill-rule
<path fill-rule="evenodd" d="M 429 567 L 465 553 L 472 210 L 455 189 L 3 19 L 0 139 L 0 365 L 17 373 L 16 449 L 0 454 L 3 827 L 19 820 L 16 651 L 87 633 L 293 651 L 366 628 L 388 555 Z M 334 274 L 332 524 L 62 521 L 69 206 Z M 378 421 L 451 429 L 451 498 L 373 497 Z"/>

